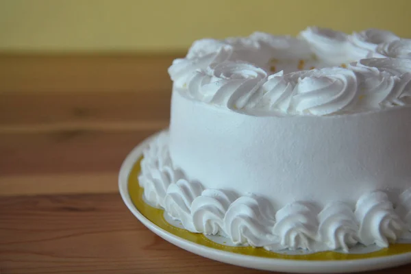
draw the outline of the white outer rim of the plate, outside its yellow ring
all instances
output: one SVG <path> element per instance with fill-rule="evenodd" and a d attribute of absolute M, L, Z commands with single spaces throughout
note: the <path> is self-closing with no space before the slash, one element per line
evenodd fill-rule
<path fill-rule="evenodd" d="M 151 138 L 153 138 L 153 136 L 141 142 L 140 145 L 138 145 L 133 149 L 131 153 L 129 153 L 129 155 L 123 162 L 119 174 L 119 189 L 123 201 L 127 205 L 127 208 L 129 208 L 129 210 L 134 214 L 134 216 L 136 216 L 137 219 L 143 225 L 148 227 L 152 232 L 162 237 L 164 240 L 171 242 L 173 245 L 177 245 L 177 247 L 181 247 L 182 249 L 196 253 L 199 256 L 220 262 L 225 262 L 227 264 L 235 264 L 238 266 L 245 266 L 253 269 L 284 271 L 292 273 L 347 273 L 356 271 L 370 271 L 399 266 L 411 262 L 411 245 L 409 245 L 410 249 L 401 251 L 401 253 L 396 255 L 379 255 L 378 257 L 375 257 L 372 255 L 373 253 L 369 253 L 370 258 L 363 256 L 365 258 L 356 258 L 353 260 L 332 260 L 329 259 L 329 256 L 325 256 L 325 258 L 327 258 L 326 260 L 301 260 L 301 258 L 298 258 L 299 255 L 288 256 L 288 258 L 286 259 L 244 255 L 241 253 L 234 253 L 230 250 L 227 251 L 214 247 L 208 247 L 206 245 L 193 242 L 192 240 L 187 240 L 181 237 L 181 232 L 179 234 L 180 236 L 177 236 L 171 233 L 173 232 L 173 229 L 167 229 L 169 230 L 167 231 L 166 229 L 161 228 L 159 225 L 156 225 L 155 223 L 147 219 L 147 217 L 143 215 L 142 212 L 140 212 L 136 208 L 136 206 L 134 206 L 134 202 L 132 201 L 132 197 L 129 193 L 129 174 L 132 169 L 134 169 L 134 166 L 136 165 L 138 159 L 140 159 L 140 157 L 142 156 L 142 150 L 148 145 Z M 184 233 L 191 234 L 190 232 Z M 229 248 L 244 249 L 245 247 Z M 393 247 L 390 247 L 386 250 L 390 251 L 389 249 L 393 249 Z"/>

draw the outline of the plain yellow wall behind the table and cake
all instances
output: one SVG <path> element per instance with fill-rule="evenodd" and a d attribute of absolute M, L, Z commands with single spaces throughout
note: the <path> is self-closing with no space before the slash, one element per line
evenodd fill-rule
<path fill-rule="evenodd" d="M 411 0 L 0 0 L 0 51 L 180 51 L 307 25 L 411 37 L 410 10 Z"/>

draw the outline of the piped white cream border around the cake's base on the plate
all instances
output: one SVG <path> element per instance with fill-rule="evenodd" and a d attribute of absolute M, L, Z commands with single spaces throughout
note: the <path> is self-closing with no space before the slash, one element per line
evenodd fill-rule
<path fill-rule="evenodd" d="M 347 252 L 358 243 L 387 247 L 410 236 L 406 232 L 411 231 L 411 188 L 397 197 L 396 208 L 386 192 L 375 190 L 364 193 L 356 204 L 334 201 L 321 209 L 311 202 L 292 201 L 275 209 L 264 196 L 204 188 L 178 169 L 168 169 L 167 176 L 158 179 L 159 166 L 173 166 L 166 152 L 168 138 L 168 132 L 162 132 L 145 150 L 139 182 L 149 203 L 164 208 L 190 232 L 221 234 L 236 245 L 269 251 Z"/>

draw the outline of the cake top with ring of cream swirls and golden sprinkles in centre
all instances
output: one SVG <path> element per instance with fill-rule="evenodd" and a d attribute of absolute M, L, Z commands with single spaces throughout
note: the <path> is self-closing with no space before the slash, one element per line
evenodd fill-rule
<path fill-rule="evenodd" d="M 411 39 L 308 27 L 195 41 L 169 68 L 195 101 L 255 116 L 328 116 L 411 105 Z"/>

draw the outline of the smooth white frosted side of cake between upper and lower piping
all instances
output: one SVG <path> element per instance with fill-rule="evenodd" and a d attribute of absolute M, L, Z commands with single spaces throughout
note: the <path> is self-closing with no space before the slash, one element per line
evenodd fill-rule
<path fill-rule="evenodd" d="M 343 116 L 249 116 L 173 92 L 173 164 L 207 188 L 290 201 L 355 203 L 410 187 L 411 108 Z"/>

